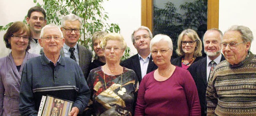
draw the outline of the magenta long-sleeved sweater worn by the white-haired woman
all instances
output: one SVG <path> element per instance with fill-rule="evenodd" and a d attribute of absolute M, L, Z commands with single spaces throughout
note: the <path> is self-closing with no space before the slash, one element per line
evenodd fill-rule
<path fill-rule="evenodd" d="M 172 76 L 159 82 L 152 71 L 144 76 L 138 90 L 135 116 L 200 116 L 196 84 L 184 68 L 176 66 Z"/>

